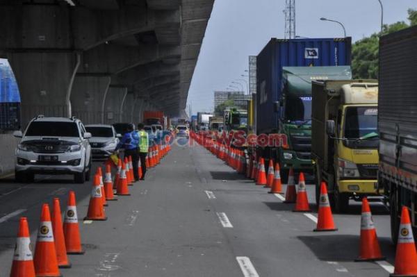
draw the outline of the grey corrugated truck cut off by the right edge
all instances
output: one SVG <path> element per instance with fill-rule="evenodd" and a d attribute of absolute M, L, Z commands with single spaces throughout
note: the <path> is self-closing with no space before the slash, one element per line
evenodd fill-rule
<path fill-rule="evenodd" d="M 379 40 L 379 185 L 397 241 L 402 206 L 417 228 L 417 26 Z"/>

